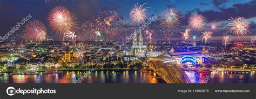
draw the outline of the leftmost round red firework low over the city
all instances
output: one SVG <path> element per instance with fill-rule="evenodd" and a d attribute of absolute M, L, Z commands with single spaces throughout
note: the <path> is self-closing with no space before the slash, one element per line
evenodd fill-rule
<path fill-rule="evenodd" d="M 43 22 L 32 20 L 26 24 L 24 33 L 26 40 L 42 42 L 46 38 L 46 27 Z"/>

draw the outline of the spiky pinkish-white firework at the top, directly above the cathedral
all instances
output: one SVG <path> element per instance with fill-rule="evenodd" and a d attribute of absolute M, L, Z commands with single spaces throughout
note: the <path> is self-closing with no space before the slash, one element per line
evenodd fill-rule
<path fill-rule="evenodd" d="M 146 3 L 144 3 L 144 4 L 146 4 Z M 147 18 L 146 17 L 146 11 L 147 11 L 146 9 L 149 7 L 143 8 L 144 4 L 139 5 L 139 6 L 138 6 L 138 3 L 134 4 L 134 7 L 130 12 L 130 17 L 133 22 L 138 22 L 139 24 L 141 24 Z"/>

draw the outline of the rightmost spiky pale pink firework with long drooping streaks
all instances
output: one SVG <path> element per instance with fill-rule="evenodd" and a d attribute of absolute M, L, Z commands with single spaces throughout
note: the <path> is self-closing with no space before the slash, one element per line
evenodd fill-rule
<path fill-rule="evenodd" d="M 249 23 L 246 21 L 244 17 L 236 17 L 228 19 L 231 21 L 231 23 L 227 24 L 225 27 L 230 27 L 227 32 L 233 32 L 234 34 L 240 36 L 240 35 L 246 35 L 247 33 L 250 33 L 248 31 L 248 28 L 250 27 Z M 225 28 L 224 27 L 224 28 Z"/>

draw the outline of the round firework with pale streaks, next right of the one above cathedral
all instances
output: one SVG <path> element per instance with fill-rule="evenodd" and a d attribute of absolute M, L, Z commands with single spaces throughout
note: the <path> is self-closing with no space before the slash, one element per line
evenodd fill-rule
<path fill-rule="evenodd" d="M 161 24 L 167 28 L 176 29 L 181 24 L 181 18 L 179 11 L 174 9 L 167 9 L 160 16 Z"/>

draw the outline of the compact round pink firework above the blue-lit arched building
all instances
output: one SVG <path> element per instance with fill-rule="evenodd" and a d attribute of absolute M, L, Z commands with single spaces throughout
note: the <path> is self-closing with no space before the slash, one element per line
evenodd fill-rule
<path fill-rule="evenodd" d="M 202 30 L 206 24 L 206 18 L 200 14 L 194 14 L 188 17 L 188 25 L 195 30 Z"/>

